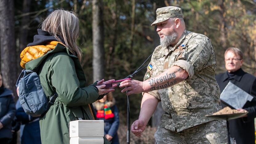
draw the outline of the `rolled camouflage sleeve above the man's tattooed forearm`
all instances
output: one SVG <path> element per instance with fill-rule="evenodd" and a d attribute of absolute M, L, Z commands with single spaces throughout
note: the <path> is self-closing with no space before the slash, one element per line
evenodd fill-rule
<path fill-rule="evenodd" d="M 184 51 L 183 58 L 174 62 L 173 66 L 179 66 L 186 70 L 190 79 L 194 72 L 204 68 L 210 58 L 210 49 L 213 48 L 208 38 L 196 36 L 191 38 Z"/>

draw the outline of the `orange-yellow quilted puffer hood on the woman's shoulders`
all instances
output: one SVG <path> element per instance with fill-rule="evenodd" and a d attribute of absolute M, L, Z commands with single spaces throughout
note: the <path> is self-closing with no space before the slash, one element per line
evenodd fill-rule
<path fill-rule="evenodd" d="M 25 68 L 25 64 L 27 62 L 33 59 L 39 58 L 44 54 L 46 54 L 48 51 L 53 50 L 58 43 L 62 44 L 61 42 L 51 41 L 46 43 L 46 45 L 26 47 L 24 50 L 22 50 L 20 54 L 20 58 L 21 58 L 20 66 Z"/>

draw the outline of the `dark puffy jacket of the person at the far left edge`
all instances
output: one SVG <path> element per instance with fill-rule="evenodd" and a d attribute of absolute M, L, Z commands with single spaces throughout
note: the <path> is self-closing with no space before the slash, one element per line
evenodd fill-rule
<path fill-rule="evenodd" d="M 0 138 L 12 138 L 11 122 L 15 117 L 15 102 L 12 91 L 0 88 L 0 122 L 3 128 L 0 129 Z"/>

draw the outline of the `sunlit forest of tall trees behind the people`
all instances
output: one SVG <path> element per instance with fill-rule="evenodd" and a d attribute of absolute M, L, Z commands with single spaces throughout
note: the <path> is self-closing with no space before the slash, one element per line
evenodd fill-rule
<path fill-rule="evenodd" d="M 182 8 L 186 29 L 209 37 L 214 46 L 216 74 L 225 72 L 224 52 L 238 47 L 244 54 L 243 70 L 256 73 L 256 0 L 0 0 L 0 47 L 3 83 L 14 92 L 21 72 L 20 52 L 38 25 L 56 9 L 70 10 L 79 18 L 79 47 L 87 84 L 101 78 L 122 79 L 132 74 L 159 45 L 156 9 Z M 146 62 L 147 65 L 149 61 Z M 143 80 L 146 69 L 134 76 Z M 120 111 L 119 141 L 126 142 L 126 95 L 113 95 Z M 15 100 L 17 100 L 17 95 Z M 141 94 L 130 95 L 131 122 L 138 118 Z M 142 137 L 131 143 L 154 143 L 161 104 Z"/>

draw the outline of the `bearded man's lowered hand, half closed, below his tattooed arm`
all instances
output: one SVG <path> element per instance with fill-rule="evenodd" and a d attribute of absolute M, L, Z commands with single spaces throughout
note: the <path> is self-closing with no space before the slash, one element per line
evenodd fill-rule
<path fill-rule="evenodd" d="M 146 128 L 146 122 L 142 121 L 142 120 L 136 120 L 133 122 L 132 126 L 131 126 L 131 132 L 136 136 L 136 137 L 140 137 L 142 132 L 145 130 Z"/>

